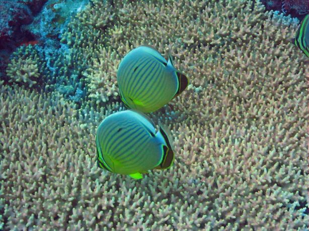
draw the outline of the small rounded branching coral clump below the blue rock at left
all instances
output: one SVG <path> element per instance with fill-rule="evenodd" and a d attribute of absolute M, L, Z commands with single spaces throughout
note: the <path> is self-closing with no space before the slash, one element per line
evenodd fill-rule
<path fill-rule="evenodd" d="M 46 63 L 31 45 L 22 46 L 13 53 L 13 56 L 14 58 L 7 67 L 9 82 L 17 82 L 32 87 L 46 80 L 45 74 L 48 74 Z"/>

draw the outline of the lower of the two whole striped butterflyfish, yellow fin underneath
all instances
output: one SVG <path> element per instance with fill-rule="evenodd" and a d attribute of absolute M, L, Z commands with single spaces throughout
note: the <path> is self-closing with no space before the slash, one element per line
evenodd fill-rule
<path fill-rule="evenodd" d="M 150 119 L 133 110 L 108 116 L 98 127 L 96 145 L 98 166 L 119 174 L 168 168 L 174 160 L 166 133 L 156 133 Z"/>

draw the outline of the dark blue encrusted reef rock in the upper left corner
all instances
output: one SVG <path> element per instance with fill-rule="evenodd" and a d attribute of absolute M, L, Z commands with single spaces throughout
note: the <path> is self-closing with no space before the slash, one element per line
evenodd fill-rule
<path fill-rule="evenodd" d="M 59 34 L 88 0 L 0 0 L 0 77 L 16 48 L 40 44 L 47 63 L 57 56 Z M 38 49 L 38 48 L 37 48 Z"/>

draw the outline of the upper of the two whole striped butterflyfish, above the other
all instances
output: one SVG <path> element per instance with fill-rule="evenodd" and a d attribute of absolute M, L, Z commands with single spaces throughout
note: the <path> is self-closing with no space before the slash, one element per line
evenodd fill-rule
<path fill-rule="evenodd" d="M 188 79 L 154 48 L 140 46 L 121 61 L 117 81 L 127 107 L 151 112 L 167 104 L 188 85 Z"/>

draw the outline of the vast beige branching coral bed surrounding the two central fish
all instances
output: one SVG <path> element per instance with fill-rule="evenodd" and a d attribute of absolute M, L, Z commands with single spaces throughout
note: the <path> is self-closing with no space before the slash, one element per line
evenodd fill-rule
<path fill-rule="evenodd" d="M 4 229 L 308 229 L 309 73 L 289 43 L 296 29 L 255 1 L 94 1 L 55 63 L 64 85 L 72 72 L 88 84 L 81 106 L 1 85 Z M 124 109 L 113 65 L 140 44 L 175 56 L 191 85 L 150 114 L 171 128 L 174 166 L 135 181 L 98 169 L 94 140 Z M 102 86 L 104 103 L 90 96 L 107 99 Z"/>

